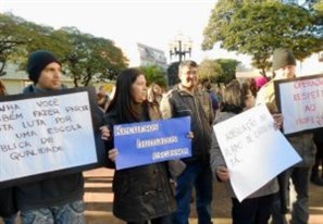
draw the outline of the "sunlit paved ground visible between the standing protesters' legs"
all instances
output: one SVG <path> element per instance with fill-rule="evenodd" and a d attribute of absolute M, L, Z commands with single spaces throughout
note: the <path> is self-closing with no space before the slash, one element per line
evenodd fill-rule
<path fill-rule="evenodd" d="M 85 172 L 86 219 L 88 224 L 122 224 L 124 222 L 112 215 L 112 176 L 113 171 L 98 169 Z M 213 223 L 231 224 L 231 201 L 223 185 L 214 186 Z M 191 204 L 190 223 L 197 223 L 195 204 Z M 311 185 L 310 188 L 310 222 L 323 224 L 323 187 Z"/>

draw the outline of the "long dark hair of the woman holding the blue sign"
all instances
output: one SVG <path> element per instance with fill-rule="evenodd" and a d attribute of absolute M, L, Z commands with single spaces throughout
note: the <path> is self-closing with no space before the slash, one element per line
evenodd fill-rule
<path fill-rule="evenodd" d="M 139 121 L 140 114 L 133 108 L 132 85 L 142 74 L 139 69 L 132 67 L 122 71 L 116 77 L 115 94 L 107 113 L 116 112 L 121 124 Z"/>

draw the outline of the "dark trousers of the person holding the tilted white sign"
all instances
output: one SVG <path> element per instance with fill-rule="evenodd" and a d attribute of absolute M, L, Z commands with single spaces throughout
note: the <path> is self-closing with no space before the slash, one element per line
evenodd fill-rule
<path fill-rule="evenodd" d="M 268 224 L 274 195 L 245 199 L 232 198 L 233 224 Z"/>

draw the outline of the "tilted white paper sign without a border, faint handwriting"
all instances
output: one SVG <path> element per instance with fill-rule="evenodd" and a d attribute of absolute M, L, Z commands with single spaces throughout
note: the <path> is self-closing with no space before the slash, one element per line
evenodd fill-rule
<path fill-rule="evenodd" d="M 265 105 L 258 105 L 213 126 L 239 201 L 301 160 Z"/>

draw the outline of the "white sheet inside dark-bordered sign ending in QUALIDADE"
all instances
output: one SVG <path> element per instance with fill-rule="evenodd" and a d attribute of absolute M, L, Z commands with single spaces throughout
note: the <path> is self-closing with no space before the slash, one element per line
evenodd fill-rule
<path fill-rule="evenodd" d="M 0 102 L 0 182 L 97 161 L 87 92 Z"/>

